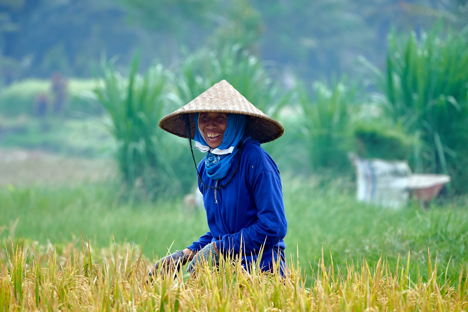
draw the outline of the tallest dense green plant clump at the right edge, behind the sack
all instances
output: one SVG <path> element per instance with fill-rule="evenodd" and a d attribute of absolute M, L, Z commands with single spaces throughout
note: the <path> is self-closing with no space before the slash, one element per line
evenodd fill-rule
<path fill-rule="evenodd" d="M 450 174 L 456 193 L 468 191 L 468 28 L 440 28 L 406 38 L 388 36 L 385 107 L 395 123 L 419 138 L 416 172 Z"/>

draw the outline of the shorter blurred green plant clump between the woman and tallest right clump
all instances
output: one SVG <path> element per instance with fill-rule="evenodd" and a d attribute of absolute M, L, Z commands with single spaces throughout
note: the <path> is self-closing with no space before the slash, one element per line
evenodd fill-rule
<path fill-rule="evenodd" d="M 300 109 L 296 130 L 301 138 L 298 150 L 305 153 L 305 166 L 341 172 L 349 169 L 347 152 L 351 148 L 351 116 L 357 107 L 356 86 L 348 86 L 343 77 L 332 81 L 331 87 L 314 82 L 313 93 L 301 84 L 296 90 Z"/>

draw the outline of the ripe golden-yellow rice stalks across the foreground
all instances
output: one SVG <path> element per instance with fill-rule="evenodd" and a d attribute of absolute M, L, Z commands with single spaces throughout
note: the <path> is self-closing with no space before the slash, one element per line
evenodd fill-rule
<path fill-rule="evenodd" d="M 246 273 L 240 264 L 199 268 L 196 277 L 157 278 L 147 285 L 152 261 L 138 247 L 93 250 L 34 243 L 0 254 L 0 307 L 5 311 L 466 311 L 467 273 L 457 286 L 438 278 L 429 263 L 428 281 L 408 276 L 408 265 L 391 271 L 381 259 L 338 270 L 319 261 L 312 284 L 291 264 L 285 279 Z"/>

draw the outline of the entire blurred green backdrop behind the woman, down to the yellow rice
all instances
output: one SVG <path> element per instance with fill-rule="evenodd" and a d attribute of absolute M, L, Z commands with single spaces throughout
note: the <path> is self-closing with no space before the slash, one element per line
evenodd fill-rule
<path fill-rule="evenodd" d="M 447 264 L 467 243 L 467 24 L 466 0 L 0 0 L 0 236 L 66 242 L 83 229 L 105 245 L 112 232 L 140 244 L 160 233 L 159 255 L 189 244 L 206 227 L 180 221 L 190 148 L 157 124 L 226 79 L 285 127 L 263 148 L 290 232 L 314 229 L 288 233 L 291 246 L 395 261 L 413 248 L 423 262 L 431 247 Z M 385 212 L 355 201 L 348 152 L 452 182 L 433 215 Z"/>

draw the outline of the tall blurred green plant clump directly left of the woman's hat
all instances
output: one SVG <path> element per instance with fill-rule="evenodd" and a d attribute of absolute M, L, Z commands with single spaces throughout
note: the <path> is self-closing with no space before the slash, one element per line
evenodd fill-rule
<path fill-rule="evenodd" d="M 148 196 L 179 192 L 187 176 L 181 160 L 182 139 L 165 135 L 159 120 L 171 109 L 171 77 L 163 65 L 155 63 L 142 76 L 139 56 L 132 60 L 128 79 L 114 68 L 113 61 L 102 60 L 101 80 L 95 95 L 109 116 L 109 130 L 117 141 L 117 163 L 125 184 Z M 187 145 L 188 146 L 188 145 Z M 171 193 L 172 194 L 172 193 Z"/>

